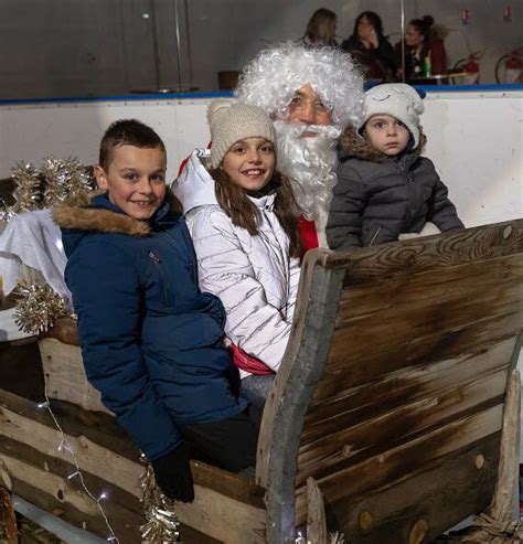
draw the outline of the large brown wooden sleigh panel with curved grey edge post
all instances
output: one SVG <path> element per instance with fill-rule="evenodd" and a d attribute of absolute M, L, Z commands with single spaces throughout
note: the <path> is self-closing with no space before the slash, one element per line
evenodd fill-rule
<path fill-rule="evenodd" d="M 309 478 L 349 542 L 484 510 L 522 323 L 523 221 L 308 254 L 258 441 L 268 542 L 293 542 Z"/>

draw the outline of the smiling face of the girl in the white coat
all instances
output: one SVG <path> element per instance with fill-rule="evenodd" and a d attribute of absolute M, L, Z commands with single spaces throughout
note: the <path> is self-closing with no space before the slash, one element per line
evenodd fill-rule
<path fill-rule="evenodd" d="M 239 140 L 223 158 L 222 168 L 233 183 L 246 191 L 260 191 L 273 178 L 276 154 L 265 138 Z"/>

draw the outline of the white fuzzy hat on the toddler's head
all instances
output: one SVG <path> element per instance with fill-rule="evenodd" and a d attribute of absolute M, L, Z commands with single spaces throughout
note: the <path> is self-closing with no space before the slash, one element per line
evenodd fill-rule
<path fill-rule="evenodd" d="M 414 148 L 419 145 L 419 116 L 425 106 L 421 97 L 414 87 L 405 83 L 385 83 L 370 88 L 363 100 L 363 121 L 365 122 L 377 114 L 386 114 L 399 119 L 410 131 L 414 138 Z"/>

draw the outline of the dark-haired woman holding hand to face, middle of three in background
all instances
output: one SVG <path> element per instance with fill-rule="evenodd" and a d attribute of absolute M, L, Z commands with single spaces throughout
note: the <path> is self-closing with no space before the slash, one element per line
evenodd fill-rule
<path fill-rule="evenodd" d="M 357 15 L 352 35 L 341 47 L 365 68 L 365 79 L 396 79 L 396 53 L 383 34 L 382 20 L 374 11 L 364 11 Z"/>

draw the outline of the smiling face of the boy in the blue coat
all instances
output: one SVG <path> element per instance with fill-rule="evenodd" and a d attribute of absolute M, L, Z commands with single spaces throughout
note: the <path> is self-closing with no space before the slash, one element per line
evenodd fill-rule
<path fill-rule="evenodd" d="M 107 171 L 95 168 L 96 181 L 109 200 L 135 220 L 148 220 L 166 196 L 166 153 L 160 148 L 119 146 Z"/>

